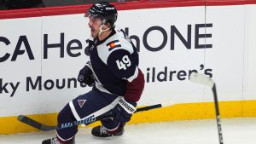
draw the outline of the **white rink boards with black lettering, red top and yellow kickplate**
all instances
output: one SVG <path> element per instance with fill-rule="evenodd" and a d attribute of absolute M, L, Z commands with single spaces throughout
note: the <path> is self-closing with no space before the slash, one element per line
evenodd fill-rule
<path fill-rule="evenodd" d="M 214 118 L 211 89 L 189 82 L 195 71 L 216 82 L 222 118 L 255 117 L 256 1 L 145 3 L 117 4 L 116 25 L 137 46 L 146 79 L 138 106 L 176 105 L 137 113 L 131 124 Z M 19 114 L 55 124 L 90 90 L 76 81 L 88 60 L 86 8 L 0 12 L 0 134 L 34 130 Z"/>

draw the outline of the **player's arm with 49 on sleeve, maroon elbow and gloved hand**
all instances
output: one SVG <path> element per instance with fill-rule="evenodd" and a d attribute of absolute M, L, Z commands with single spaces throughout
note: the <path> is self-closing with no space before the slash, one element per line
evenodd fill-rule
<path fill-rule="evenodd" d="M 131 54 L 124 50 L 115 50 L 108 59 L 108 66 L 117 78 L 126 80 L 126 91 L 124 98 L 113 108 L 117 122 L 128 122 L 131 115 L 136 111 L 137 101 L 140 99 L 144 88 L 143 72 L 137 67 L 136 60 Z"/>

